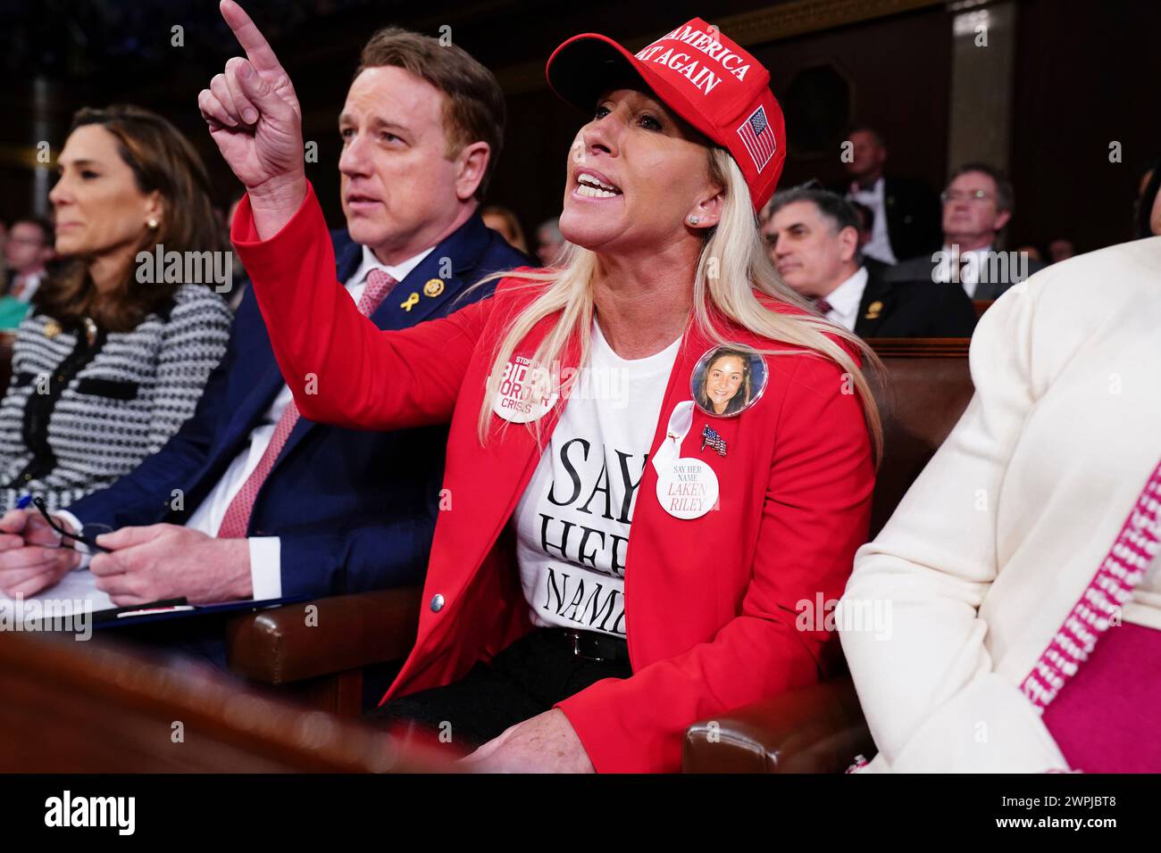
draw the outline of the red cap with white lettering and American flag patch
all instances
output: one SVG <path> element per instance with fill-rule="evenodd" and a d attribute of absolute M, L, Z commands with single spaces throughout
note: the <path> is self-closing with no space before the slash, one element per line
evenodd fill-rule
<path fill-rule="evenodd" d="M 713 142 L 733 154 L 755 210 L 770 201 L 786 160 L 781 107 L 770 72 L 700 17 L 630 53 L 607 36 L 574 36 L 548 58 L 548 85 L 584 110 L 610 84 L 640 78 Z"/>

